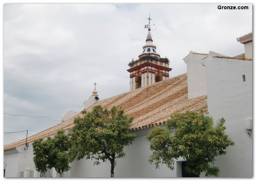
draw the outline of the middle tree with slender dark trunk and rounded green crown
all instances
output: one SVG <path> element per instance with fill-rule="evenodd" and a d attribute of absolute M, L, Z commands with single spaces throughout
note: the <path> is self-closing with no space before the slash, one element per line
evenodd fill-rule
<path fill-rule="evenodd" d="M 128 118 L 124 110 L 111 108 L 110 111 L 95 106 L 92 112 L 82 111 L 83 118 L 75 118 L 70 151 L 72 160 L 94 158 L 94 165 L 109 160 L 111 177 L 114 177 L 116 158 L 125 156 L 124 147 L 132 144 L 136 135 L 129 132 L 133 117 Z"/>

